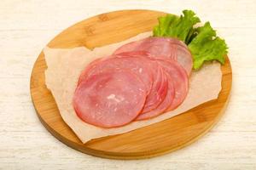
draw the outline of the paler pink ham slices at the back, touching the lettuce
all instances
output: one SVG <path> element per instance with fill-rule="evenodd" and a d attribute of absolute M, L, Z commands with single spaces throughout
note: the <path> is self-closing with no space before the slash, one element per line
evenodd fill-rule
<path fill-rule="evenodd" d="M 176 60 L 189 75 L 193 59 L 189 52 L 189 48 L 182 41 L 176 38 L 167 37 L 148 37 L 136 42 L 129 42 L 118 48 L 114 54 L 121 54 L 129 51 L 146 51 L 152 57 L 161 57 Z"/>

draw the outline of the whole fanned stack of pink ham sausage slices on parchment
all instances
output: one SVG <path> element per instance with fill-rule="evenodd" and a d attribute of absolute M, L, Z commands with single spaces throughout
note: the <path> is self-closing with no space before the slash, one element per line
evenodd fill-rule
<path fill-rule="evenodd" d="M 175 38 L 129 42 L 86 66 L 73 107 L 80 119 L 97 127 L 159 116 L 183 103 L 192 65 L 188 47 Z"/>

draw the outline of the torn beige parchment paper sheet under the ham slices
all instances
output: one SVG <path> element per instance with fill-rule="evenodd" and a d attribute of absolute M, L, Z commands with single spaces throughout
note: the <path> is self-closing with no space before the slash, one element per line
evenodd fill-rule
<path fill-rule="evenodd" d="M 72 99 L 80 72 L 92 60 L 112 54 L 120 45 L 126 42 L 150 36 L 145 32 L 132 37 L 124 42 L 114 43 L 102 48 L 90 50 L 88 48 L 44 48 L 44 56 L 48 69 L 45 71 L 45 81 L 47 88 L 51 91 L 58 105 L 63 120 L 73 132 L 77 134 L 83 143 L 90 139 L 96 139 L 108 135 L 127 133 L 131 130 L 145 127 L 155 122 L 160 122 L 177 116 L 189 109 L 201 105 L 212 99 L 217 99 L 221 90 L 222 73 L 217 62 L 204 65 L 200 71 L 193 71 L 189 77 L 189 94 L 176 110 L 166 112 L 153 119 L 131 122 L 124 127 L 102 128 L 95 127 L 83 122 L 73 110 Z"/>

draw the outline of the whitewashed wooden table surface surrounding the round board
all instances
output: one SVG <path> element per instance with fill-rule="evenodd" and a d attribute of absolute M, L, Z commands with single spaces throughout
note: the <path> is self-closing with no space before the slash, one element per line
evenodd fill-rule
<path fill-rule="evenodd" d="M 39 122 L 29 92 L 32 65 L 49 40 L 79 20 L 124 8 L 191 8 L 230 47 L 234 81 L 224 117 L 189 147 L 149 160 L 108 160 L 67 147 Z M 255 75 L 255 0 L 1 0 L 0 169 L 256 169 Z"/>

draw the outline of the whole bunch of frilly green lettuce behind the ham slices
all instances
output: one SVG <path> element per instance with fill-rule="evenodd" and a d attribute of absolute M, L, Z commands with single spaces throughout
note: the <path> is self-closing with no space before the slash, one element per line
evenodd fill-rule
<path fill-rule="evenodd" d="M 154 37 L 174 37 L 185 42 L 193 56 L 193 68 L 199 69 L 205 61 L 218 60 L 224 64 L 227 45 L 216 37 L 216 31 L 207 22 L 195 28 L 200 19 L 191 10 L 183 10 L 180 17 L 172 14 L 160 17 L 159 25 L 154 26 Z"/>

